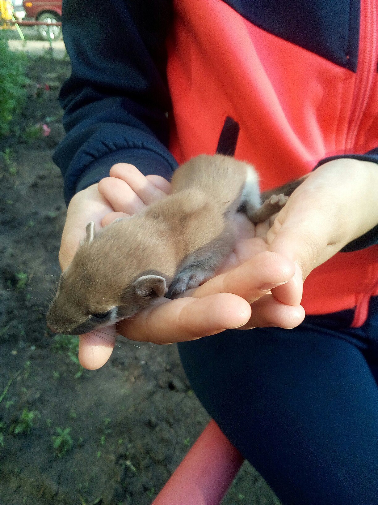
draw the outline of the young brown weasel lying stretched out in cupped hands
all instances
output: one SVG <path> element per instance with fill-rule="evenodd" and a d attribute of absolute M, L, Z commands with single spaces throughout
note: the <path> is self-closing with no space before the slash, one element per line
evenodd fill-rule
<path fill-rule="evenodd" d="M 134 316 L 159 296 L 197 287 L 232 251 L 233 215 L 241 210 L 255 224 L 265 221 L 305 177 L 261 195 L 248 163 L 219 154 L 184 163 L 173 174 L 171 194 L 101 230 L 87 225 L 60 276 L 49 328 L 86 333 Z"/>

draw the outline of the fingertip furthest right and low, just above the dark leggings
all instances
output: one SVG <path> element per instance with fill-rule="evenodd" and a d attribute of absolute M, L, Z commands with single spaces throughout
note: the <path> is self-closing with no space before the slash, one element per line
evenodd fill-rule
<path fill-rule="evenodd" d="M 298 326 L 304 319 L 302 306 L 282 304 L 273 294 L 269 293 L 256 300 L 251 306 L 251 317 L 240 329 L 279 327 L 291 329 Z"/>

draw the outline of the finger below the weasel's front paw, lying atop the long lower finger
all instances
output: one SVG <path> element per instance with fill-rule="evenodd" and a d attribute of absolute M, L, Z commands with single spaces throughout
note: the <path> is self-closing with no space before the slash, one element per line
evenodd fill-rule
<path fill-rule="evenodd" d="M 274 287 L 287 283 L 294 272 L 294 263 L 282 255 L 259 252 L 239 267 L 205 282 L 191 296 L 202 298 L 214 293 L 233 293 L 251 303 Z"/>

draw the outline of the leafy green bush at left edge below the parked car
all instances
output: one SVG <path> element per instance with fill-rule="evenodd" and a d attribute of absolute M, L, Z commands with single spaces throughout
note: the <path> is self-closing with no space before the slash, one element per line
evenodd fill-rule
<path fill-rule="evenodd" d="M 0 37 L 0 137 L 7 135 L 10 122 L 26 99 L 26 57 L 10 51 L 8 41 Z"/>

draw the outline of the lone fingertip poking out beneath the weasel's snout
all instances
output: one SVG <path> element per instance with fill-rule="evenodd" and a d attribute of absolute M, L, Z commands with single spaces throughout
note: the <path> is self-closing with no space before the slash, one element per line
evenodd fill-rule
<path fill-rule="evenodd" d="M 115 344 L 115 326 L 80 335 L 79 361 L 88 370 L 97 370 L 105 365 Z"/>

